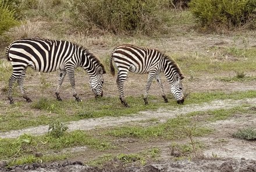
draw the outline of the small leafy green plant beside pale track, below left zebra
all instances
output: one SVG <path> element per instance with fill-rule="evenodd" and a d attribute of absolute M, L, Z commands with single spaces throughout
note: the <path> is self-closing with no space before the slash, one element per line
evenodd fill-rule
<path fill-rule="evenodd" d="M 65 133 L 65 131 L 67 129 L 68 129 L 68 127 L 63 125 L 61 122 L 59 122 L 59 121 L 53 122 L 53 123 L 50 123 L 50 125 L 49 125 L 48 134 L 50 134 L 51 136 L 54 136 L 56 138 L 59 138 L 59 137 L 63 136 L 63 134 Z"/>

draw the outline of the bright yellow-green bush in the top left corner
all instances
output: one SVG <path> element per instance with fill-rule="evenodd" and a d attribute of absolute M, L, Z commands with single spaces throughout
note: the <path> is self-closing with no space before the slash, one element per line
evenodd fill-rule
<path fill-rule="evenodd" d="M 0 35 L 9 28 L 19 24 L 14 17 L 15 11 L 10 10 L 5 1 L 0 0 Z"/>

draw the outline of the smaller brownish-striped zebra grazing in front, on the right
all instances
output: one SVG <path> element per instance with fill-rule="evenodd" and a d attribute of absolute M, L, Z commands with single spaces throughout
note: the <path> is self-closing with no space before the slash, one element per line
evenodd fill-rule
<path fill-rule="evenodd" d="M 125 100 L 123 86 L 129 71 L 136 74 L 148 73 L 148 80 L 144 94 L 144 101 L 146 105 L 148 104 L 148 90 L 150 89 L 153 78 L 158 82 L 163 99 L 166 103 L 168 102 L 159 76 L 159 73 L 161 72 L 163 72 L 168 79 L 171 87 L 170 90 L 174 94 L 177 103 L 183 104 L 184 96 L 182 90 L 182 79 L 184 76 L 175 61 L 166 54 L 159 52 L 156 49 L 148 49 L 134 45 L 120 45 L 113 50 L 109 61 L 111 74 L 114 76 L 115 68 L 113 67 L 112 61 L 114 61 L 116 68 L 118 69 L 116 83 L 119 90 L 119 99 L 126 107 L 129 107 L 129 105 Z"/>

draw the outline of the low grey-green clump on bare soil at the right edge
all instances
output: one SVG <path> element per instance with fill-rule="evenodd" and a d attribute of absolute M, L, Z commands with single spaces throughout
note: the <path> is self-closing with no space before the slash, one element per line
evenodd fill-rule
<path fill-rule="evenodd" d="M 244 140 L 256 140 L 256 130 L 253 127 L 239 129 L 236 133 L 232 134 L 232 136 Z"/>

